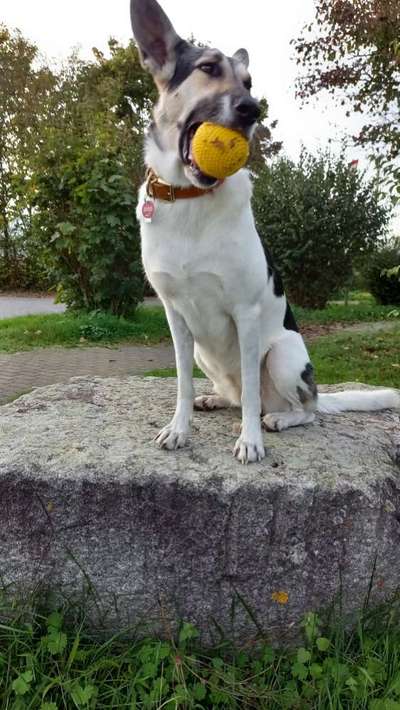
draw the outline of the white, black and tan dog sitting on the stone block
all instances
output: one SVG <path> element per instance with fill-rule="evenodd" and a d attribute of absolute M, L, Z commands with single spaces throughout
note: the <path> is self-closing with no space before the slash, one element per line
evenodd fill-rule
<path fill-rule="evenodd" d="M 189 44 L 156 0 L 131 0 L 131 18 L 159 90 L 139 193 L 143 264 L 165 307 L 178 370 L 176 411 L 156 437 L 159 446 L 185 445 L 193 405 L 242 407 L 234 447 L 242 463 L 264 458 L 262 423 L 281 431 L 312 422 L 316 411 L 400 406 L 400 394 L 389 389 L 318 396 L 282 282 L 255 228 L 248 172 L 221 183 L 193 159 L 191 142 L 204 121 L 251 139 L 260 109 L 250 94 L 247 51 L 227 57 Z M 193 357 L 212 381 L 212 395 L 194 399 Z"/>

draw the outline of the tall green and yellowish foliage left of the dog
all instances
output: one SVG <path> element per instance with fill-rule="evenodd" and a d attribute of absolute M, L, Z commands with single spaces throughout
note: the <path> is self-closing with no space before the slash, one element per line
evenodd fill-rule
<path fill-rule="evenodd" d="M 142 298 L 136 190 L 155 89 L 136 47 L 47 67 L 0 25 L 0 288 L 59 285 L 75 308 Z"/>

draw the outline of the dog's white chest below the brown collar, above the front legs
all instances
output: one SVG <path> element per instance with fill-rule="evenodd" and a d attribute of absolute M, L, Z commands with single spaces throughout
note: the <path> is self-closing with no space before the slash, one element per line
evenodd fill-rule
<path fill-rule="evenodd" d="M 141 214 L 146 274 L 166 304 L 184 316 L 195 339 L 232 336 L 237 307 L 255 304 L 265 289 L 266 264 L 250 209 L 247 176 L 214 197 L 157 203 Z"/>

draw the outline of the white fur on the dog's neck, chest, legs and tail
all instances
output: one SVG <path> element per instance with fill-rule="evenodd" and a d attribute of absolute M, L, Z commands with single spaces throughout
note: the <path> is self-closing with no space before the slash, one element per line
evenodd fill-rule
<path fill-rule="evenodd" d="M 154 155 L 167 181 L 184 183 L 179 159 Z M 150 156 L 149 156 L 150 157 Z M 309 358 L 301 336 L 286 330 L 285 297 L 276 297 L 251 211 L 251 182 L 241 170 L 213 193 L 174 203 L 156 201 L 149 224 L 142 218 L 146 274 L 162 299 L 174 340 L 178 369 L 175 415 L 158 435 L 167 449 L 183 446 L 193 410 L 192 364 L 214 383 L 214 398 L 198 398 L 205 409 L 241 405 L 242 432 L 234 448 L 242 462 L 264 456 L 260 411 L 268 429 L 311 423 L 315 402 L 299 401 L 300 374 Z M 268 357 L 265 360 L 265 356 Z M 400 406 L 394 390 L 320 395 L 321 412 Z"/>

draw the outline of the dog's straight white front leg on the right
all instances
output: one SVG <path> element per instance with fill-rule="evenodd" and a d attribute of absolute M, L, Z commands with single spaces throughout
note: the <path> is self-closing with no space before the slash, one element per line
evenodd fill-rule
<path fill-rule="evenodd" d="M 258 309 L 243 309 L 235 316 L 242 373 L 242 432 L 234 455 L 241 463 L 265 456 L 261 431 L 260 336 Z"/>

